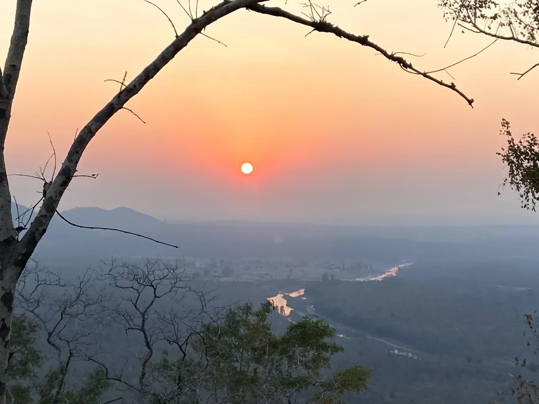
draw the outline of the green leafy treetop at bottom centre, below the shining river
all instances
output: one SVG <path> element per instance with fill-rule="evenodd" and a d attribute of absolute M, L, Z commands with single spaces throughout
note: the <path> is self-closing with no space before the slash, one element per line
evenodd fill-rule
<path fill-rule="evenodd" d="M 208 402 L 280 403 L 301 396 L 304 402 L 331 404 L 345 392 L 363 391 L 370 377 L 364 367 L 323 374 L 331 356 L 343 351 L 327 340 L 334 329 L 306 317 L 277 336 L 268 323 L 273 310 L 271 302 L 258 310 L 251 304 L 231 308 L 221 321 L 205 324 L 188 360 L 172 361 L 165 352 L 153 370 L 167 388 L 155 394 L 154 403 L 196 402 L 187 394 L 196 390 Z"/>

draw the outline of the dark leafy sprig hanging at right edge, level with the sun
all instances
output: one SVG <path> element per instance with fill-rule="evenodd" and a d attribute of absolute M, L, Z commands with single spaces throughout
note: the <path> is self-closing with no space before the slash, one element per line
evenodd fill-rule
<path fill-rule="evenodd" d="M 521 206 L 524 209 L 535 211 L 536 201 L 539 199 L 539 142 L 534 134 L 527 133 L 516 141 L 511 133 L 510 124 L 502 120 L 502 136 L 507 137 L 507 149 L 496 153 L 507 164 L 508 176 L 503 179 L 503 186 L 509 185 L 511 189 L 519 192 Z"/>

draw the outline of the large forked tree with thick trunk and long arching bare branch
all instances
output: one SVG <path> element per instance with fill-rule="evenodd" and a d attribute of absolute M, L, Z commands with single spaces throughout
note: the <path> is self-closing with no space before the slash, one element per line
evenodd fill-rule
<path fill-rule="evenodd" d="M 146 0 L 147 1 L 147 0 Z M 120 82 L 120 91 L 108 101 L 90 119 L 75 136 L 74 141 L 61 164 L 60 169 L 51 181 L 43 186 L 43 203 L 40 205 L 36 217 L 33 219 L 26 232 L 19 240 L 20 226 L 13 224 L 11 214 L 11 193 L 8 184 L 8 175 L 4 161 L 4 144 L 11 117 L 11 108 L 15 99 L 16 87 L 22 67 L 23 56 L 27 39 L 30 32 L 30 14 L 32 0 L 16 0 L 15 25 L 11 42 L 3 70 L 0 68 L 0 404 L 5 403 L 6 368 L 9 357 L 9 336 L 11 319 L 13 315 L 13 298 L 19 276 L 22 274 L 26 263 L 32 256 L 34 249 L 47 231 L 52 217 L 57 212 L 58 205 L 67 187 L 73 178 L 77 177 L 77 167 L 89 142 L 98 131 L 119 110 L 127 109 L 127 102 L 132 99 L 147 83 L 155 77 L 192 39 L 198 34 L 206 35 L 203 31 L 230 13 L 240 9 L 280 17 L 293 23 L 309 27 L 310 32 L 326 32 L 336 37 L 344 38 L 359 45 L 371 48 L 382 54 L 389 61 L 395 62 L 404 71 L 417 74 L 423 78 L 437 83 L 440 86 L 451 89 L 459 94 L 472 106 L 473 99 L 461 92 L 454 83 L 446 83 L 429 72 L 421 71 L 412 66 L 399 53 L 389 52 L 382 46 L 374 43 L 368 35 L 356 35 L 342 30 L 340 27 L 328 21 L 329 8 L 318 6 L 307 1 L 305 13 L 294 15 L 278 6 L 266 6 L 269 0 L 224 0 L 207 11 L 198 13 L 188 12 L 191 22 L 183 32 L 178 33 L 172 20 L 169 21 L 174 27 L 175 37 L 157 57 L 149 63 L 132 81 Z M 156 4 L 159 10 L 163 11 Z M 178 2 L 179 3 L 179 2 Z M 163 11 L 164 13 L 164 11 Z M 168 17 L 167 17 L 168 18 Z M 26 227 L 26 226 L 24 226 Z"/>

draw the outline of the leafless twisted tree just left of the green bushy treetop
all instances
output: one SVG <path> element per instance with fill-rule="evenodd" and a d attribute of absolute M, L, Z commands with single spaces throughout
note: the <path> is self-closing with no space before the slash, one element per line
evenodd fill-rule
<path fill-rule="evenodd" d="M 134 351 L 120 354 L 120 366 L 119 353 L 111 356 L 102 345 L 89 350 L 86 358 L 101 366 L 105 377 L 121 390 L 148 398 L 155 394 L 159 382 L 152 367 L 155 358 L 162 356 L 160 349 L 174 350 L 171 354 L 175 360 L 186 360 L 190 339 L 203 324 L 215 321 L 218 308 L 213 305 L 211 292 L 202 285 L 196 288 L 192 277 L 177 263 L 161 259 L 144 259 L 141 264 L 113 261 L 102 278 L 114 296 L 103 307 L 108 326 L 133 338 Z M 198 373 L 191 374 L 199 377 Z M 187 382 L 185 378 L 178 385 Z"/>

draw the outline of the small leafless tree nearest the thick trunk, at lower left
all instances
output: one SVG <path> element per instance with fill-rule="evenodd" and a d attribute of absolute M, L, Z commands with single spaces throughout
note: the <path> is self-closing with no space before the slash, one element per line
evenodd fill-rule
<path fill-rule="evenodd" d="M 94 271 L 87 270 L 67 281 L 61 273 L 34 262 L 19 278 L 18 308 L 37 321 L 52 353 L 40 384 L 39 402 L 56 404 L 70 401 L 76 395 L 67 379 L 74 362 L 84 363 L 92 340 L 102 331 L 104 296 L 102 290 L 95 288 L 94 275 Z M 103 386 L 92 390 L 100 395 L 104 389 Z"/>

